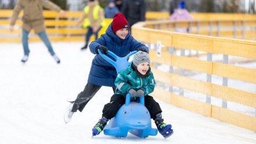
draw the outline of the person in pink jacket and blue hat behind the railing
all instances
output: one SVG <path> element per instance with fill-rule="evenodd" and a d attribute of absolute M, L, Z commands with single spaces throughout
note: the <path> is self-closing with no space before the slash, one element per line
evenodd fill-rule
<path fill-rule="evenodd" d="M 184 1 L 180 2 L 177 5 L 177 9 L 174 10 L 174 13 L 170 15 L 169 20 L 194 20 L 194 17 L 185 9 L 186 3 Z M 176 28 L 177 32 L 187 33 L 188 28 Z"/>

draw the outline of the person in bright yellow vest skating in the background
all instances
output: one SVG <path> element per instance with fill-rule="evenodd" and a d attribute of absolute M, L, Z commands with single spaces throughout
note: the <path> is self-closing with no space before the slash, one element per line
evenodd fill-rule
<path fill-rule="evenodd" d="M 105 26 L 104 21 L 104 9 L 99 6 L 97 0 L 89 0 L 88 5 L 84 8 L 83 15 L 77 21 L 77 25 L 83 22 L 83 27 L 87 28 L 87 33 L 85 35 L 86 44 L 81 48 L 87 49 L 88 42 L 91 35 L 95 35 L 95 39 L 98 38 L 98 32 L 103 26 Z"/>

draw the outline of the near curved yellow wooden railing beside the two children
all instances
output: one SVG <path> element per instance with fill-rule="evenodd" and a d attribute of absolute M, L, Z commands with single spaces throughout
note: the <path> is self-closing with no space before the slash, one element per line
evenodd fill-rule
<path fill-rule="evenodd" d="M 151 48 L 152 71 L 158 84 L 152 95 L 172 105 L 256 131 L 256 69 L 229 63 L 232 57 L 255 62 L 256 41 L 175 33 L 166 30 L 168 24 L 173 23 L 150 21 L 132 27 L 134 38 Z M 204 59 L 187 55 L 190 51 L 200 53 Z M 219 55 L 221 62 L 215 60 Z M 220 84 L 212 77 L 218 77 Z M 230 87 L 229 82 L 233 80 L 239 81 L 238 85 L 253 85 L 253 89 Z M 214 105 L 215 99 L 221 99 L 222 105 Z M 253 111 L 248 114 L 232 110 L 233 103 L 251 107 Z"/>

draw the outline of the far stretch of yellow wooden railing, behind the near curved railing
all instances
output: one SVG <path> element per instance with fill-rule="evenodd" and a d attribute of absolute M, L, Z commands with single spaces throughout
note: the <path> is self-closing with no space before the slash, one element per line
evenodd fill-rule
<path fill-rule="evenodd" d="M 165 31 L 179 31 L 179 28 L 188 28 L 187 33 L 191 34 L 256 40 L 256 18 L 236 20 L 151 21 L 151 24 L 145 27 Z"/>

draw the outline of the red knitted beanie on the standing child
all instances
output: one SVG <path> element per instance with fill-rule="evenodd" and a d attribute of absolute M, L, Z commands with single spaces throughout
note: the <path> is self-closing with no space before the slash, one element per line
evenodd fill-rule
<path fill-rule="evenodd" d="M 122 13 L 116 13 L 112 21 L 112 30 L 114 33 L 122 28 L 129 28 L 128 21 Z"/>

